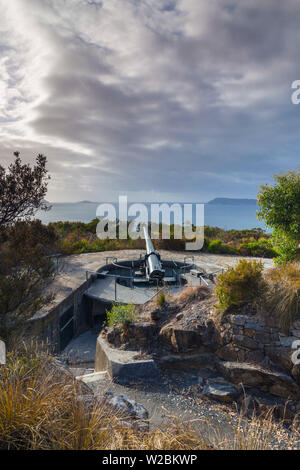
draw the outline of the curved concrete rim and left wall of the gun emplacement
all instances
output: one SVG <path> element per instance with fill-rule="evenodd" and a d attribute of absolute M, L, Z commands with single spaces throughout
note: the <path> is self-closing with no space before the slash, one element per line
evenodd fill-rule
<path fill-rule="evenodd" d="M 194 256 L 195 263 L 208 272 L 235 265 L 240 259 L 238 256 L 195 254 L 185 251 L 161 250 L 160 253 L 166 260 L 183 261 L 185 256 Z M 38 334 L 44 341 L 55 346 L 56 351 L 61 351 L 59 319 L 67 309 L 73 308 L 74 310 L 74 334 L 80 334 L 89 327 L 82 315 L 82 309 L 84 310 L 82 299 L 87 288 L 86 271 L 97 271 L 106 264 L 107 257 L 115 257 L 118 260 L 137 259 L 140 254 L 144 255 L 145 252 L 142 250 L 105 251 L 60 258 L 57 276 L 45 291 L 45 295 L 53 294 L 54 298 L 30 319 L 32 333 Z M 272 260 L 263 260 L 263 263 L 266 268 L 273 265 Z"/>

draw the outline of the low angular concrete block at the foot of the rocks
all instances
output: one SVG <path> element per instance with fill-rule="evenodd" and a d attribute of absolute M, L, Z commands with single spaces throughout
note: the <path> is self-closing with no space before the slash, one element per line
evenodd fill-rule
<path fill-rule="evenodd" d="M 107 370 L 112 378 L 152 378 L 159 374 L 159 369 L 152 359 L 137 360 L 136 356 L 137 351 L 111 348 L 106 339 L 99 335 L 96 346 L 95 372 Z"/>

